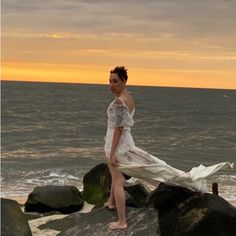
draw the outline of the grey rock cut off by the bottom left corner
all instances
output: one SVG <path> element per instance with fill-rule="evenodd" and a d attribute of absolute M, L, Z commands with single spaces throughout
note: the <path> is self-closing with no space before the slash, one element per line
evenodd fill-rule
<path fill-rule="evenodd" d="M 27 218 L 14 200 L 1 198 L 1 235 L 32 235 Z"/>

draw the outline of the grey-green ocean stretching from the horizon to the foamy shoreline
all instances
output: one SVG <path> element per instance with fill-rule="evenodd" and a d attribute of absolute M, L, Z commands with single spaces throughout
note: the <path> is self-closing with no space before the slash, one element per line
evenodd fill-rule
<path fill-rule="evenodd" d="M 168 164 L 236 164 L 236 90 L 128 86 L 136 103 L 136 146 Z M 1 83 L 1 195 L 27 196 L 40 185 L 83 188 L 105 162 L 107 85 Z M 209 179 L 236 200 L 236 166 Z"/>

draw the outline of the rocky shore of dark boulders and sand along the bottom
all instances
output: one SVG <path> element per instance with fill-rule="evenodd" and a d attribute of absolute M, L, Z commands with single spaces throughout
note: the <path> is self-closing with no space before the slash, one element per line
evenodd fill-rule
<path fill-rule="evenodd" d="M 3 236 L 235 235 L 233 205 L 214 194 L 164 183 L 150 193 L 140 184 L 125 187 L 128 228 L 110 231 L 109 222 L 117 219 L 115 210 L 103 207 L 110 184 L 108 167 L 100 164 L 84 176 L 83 192 L 74 186 L 49 185 L 36 187 L 22 205 L 1 198 L 1 233 Z"/>

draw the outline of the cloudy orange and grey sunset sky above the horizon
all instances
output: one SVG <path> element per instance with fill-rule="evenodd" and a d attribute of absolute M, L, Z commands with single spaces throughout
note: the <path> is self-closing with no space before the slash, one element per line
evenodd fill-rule
<path fill-rule="evenodd" d="M 235 0 L 2 0 L 2 80 L 236 89 Z"/>

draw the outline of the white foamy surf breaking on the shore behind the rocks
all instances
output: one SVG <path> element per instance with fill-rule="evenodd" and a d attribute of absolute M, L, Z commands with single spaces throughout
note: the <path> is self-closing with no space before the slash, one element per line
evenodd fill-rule
<path fill-rule="evenodd" d="M 15 172 L 14 172 L 15 173 Z M 1 178 L 3 197 L 27 196 L 34 187 L 45 185 L 73 185 L 80 191 L 83 189 L 83 176 L 86 170 L 75 170 L 68 173 L 62 169 L 45 169 L 16 173 L 17 179 Z M 212 192 L 212 183 L 217 182 L 219 195 L 229 202 L 236 201 L 236 175 L 215 175 L 209 178 L 208 189 Z"/>

